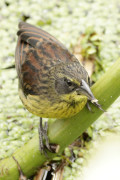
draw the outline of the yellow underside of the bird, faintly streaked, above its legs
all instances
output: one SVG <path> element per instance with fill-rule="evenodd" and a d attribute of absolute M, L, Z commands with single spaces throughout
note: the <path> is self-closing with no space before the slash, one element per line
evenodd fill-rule
<path fill-rule="evenodd" d="M 74 105 L 65 101 L 53 103 L 47 99 L 38 98 L 36 95 L 24 96 L 23 92 L 19 92 L 20 98 L 28 111 L 39 117 L 45 118 L 67 118 L 77 114 L 82 110 L 87 102 L 87 98 L 81 98 L 80 102 Z"/>

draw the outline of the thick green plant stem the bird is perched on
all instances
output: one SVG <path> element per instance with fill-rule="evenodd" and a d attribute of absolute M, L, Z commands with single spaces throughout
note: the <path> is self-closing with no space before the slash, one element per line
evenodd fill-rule
<path fill-rule="evenodd" d="M 95 97 L 106 110 L 120 95 L 120 59 L 92 86 Z M 94 113 L 84 108 L 76 116 L 68 119 L 56 120 L 49 125 L 50 142 L 60 145 L 59 154 L 71 144 L 103 113 L 91 105 Z M 18 149 L 13 156 L 18 160 L 24 174 L 30 177 L 47 161 L 39 152 L 38 135 Z M 56 154 L 48 153 L 49 160 Z M 0 161 L 0 180 L 18 180 L 19 172 L 12 157 Z"/>

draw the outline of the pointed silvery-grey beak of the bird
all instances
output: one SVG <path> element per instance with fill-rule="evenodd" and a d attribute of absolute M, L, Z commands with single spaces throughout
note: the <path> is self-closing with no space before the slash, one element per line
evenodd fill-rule
<path fill-rule="evenodd" d="M 77 93 L 79 95 L 85 95 L 88 97 L 88 99 L 92 102 L 92 103 L 96 103 L 98 102 L 98 100 L 94 97 L 89 85 L 82 79 L 82 84 L 80 86 L 79 89 L 77 89 Z"/>

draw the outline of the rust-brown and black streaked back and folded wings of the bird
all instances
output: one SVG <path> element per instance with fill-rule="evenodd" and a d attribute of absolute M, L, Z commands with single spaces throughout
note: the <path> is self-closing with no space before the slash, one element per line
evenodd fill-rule
<path fill-rule="evenodd" d="M 52 66 L 76 60 L 62 43 L 40 28 L 20 22 L 17 35 L 16 68 L 23 89 L 28 93 L 38 92 L 38 82 L 42 83 Z"/>

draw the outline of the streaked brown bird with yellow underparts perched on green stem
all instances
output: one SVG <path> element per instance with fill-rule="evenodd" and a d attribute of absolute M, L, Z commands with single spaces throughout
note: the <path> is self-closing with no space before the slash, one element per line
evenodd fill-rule
<path fill-rule="evenodd" d="M 90 89 L 87 71 L 60 41 L 26 22 L 19 23 L 17 35 L 15 66 L 19 96 L 25 108 L 40 117 L 41 153 L 45 148 L 53 151 L 47 136 L 48 123 L 43 126 L 42 118 L 72 117 L 88 101 L 102 108 Z"/>

